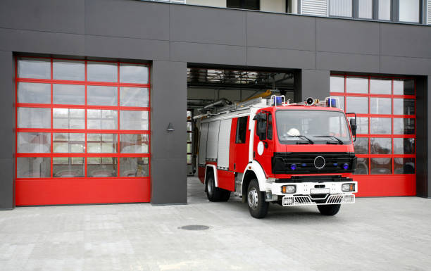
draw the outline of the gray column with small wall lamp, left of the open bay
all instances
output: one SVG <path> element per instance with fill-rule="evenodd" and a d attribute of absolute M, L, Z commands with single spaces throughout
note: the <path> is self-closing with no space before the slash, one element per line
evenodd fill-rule
<path fill-rule="evenodd" d="M 151 87 L 151 203 L 187 203 L 187 63 L 154 61 Z"/>

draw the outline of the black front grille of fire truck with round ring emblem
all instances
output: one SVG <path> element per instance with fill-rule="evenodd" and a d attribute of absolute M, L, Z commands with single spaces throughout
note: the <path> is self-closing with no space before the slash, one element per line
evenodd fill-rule
<path fill-rule="evenodd" d="M 274 153 L 274 174 L 354 172 L 354 153 Z"/>

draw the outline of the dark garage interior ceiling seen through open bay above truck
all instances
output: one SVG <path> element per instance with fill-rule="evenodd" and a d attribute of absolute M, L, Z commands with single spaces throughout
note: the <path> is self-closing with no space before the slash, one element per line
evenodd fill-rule
<path fill-rule="evenodd" d="M 189 108 L 204 106 L 218 99 L 245 101 L 268 89 L 273 94 L 284 94 L 286 99 L 291 99 L 294 75 L 261 70 L 188 68 L 187 88 Z"/>

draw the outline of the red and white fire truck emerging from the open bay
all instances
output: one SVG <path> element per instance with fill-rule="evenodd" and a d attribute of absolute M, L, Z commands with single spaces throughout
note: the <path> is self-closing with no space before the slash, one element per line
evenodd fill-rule
<path fill-rule="evenodd" d="M 316 205 L 323 215 L 355 202 L 356 115 L 349 122 L 337 98 L 289 103 L 273 95 L 194 119 L 198 175 L 209 201 L 227 201 L 234 192 L 254 218 L 264 218 L 270 202 Z"/>

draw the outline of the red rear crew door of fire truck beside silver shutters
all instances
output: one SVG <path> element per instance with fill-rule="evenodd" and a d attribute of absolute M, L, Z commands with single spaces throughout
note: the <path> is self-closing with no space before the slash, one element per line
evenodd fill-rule
<path fill-rule="evenodd" d="M 234 118 L 230 134 L 230 170 L 244 172 L 249 163 L 249 138 L 249 117 Z"/>

